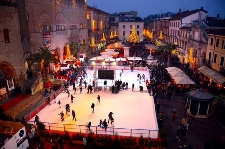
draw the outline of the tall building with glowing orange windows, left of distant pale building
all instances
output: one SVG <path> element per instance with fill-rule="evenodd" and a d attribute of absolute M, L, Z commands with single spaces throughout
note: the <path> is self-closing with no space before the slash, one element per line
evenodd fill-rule
<path fill-rule="evenodd" d="M 104 48 L 109 41 L 109 14 L 97 8 L 87 6 L 88 44 L 92 48 Z"/>

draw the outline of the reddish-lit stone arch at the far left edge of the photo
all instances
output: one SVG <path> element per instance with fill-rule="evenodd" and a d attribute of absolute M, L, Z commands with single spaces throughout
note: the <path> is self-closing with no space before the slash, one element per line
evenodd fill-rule
<path fill-rule="evenodd" d="M 0 62 L 0 69 L 5 73 L 5 79 L 15 78 L 16 72 L 11 64 L 6 61 Z"/>

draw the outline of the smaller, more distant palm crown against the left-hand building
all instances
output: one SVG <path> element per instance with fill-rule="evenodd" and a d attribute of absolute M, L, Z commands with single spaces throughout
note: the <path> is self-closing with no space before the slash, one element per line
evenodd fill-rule
<path fill-rule="evenodd" d="M 80 43 L 80 41 L 74 41 L 70 44 L 70 53 L 75 56 L 76 58 L 79 59 L 79 55 L 82 52 L 86 53 L 84 48 L 85 48 L 85 44 Z"/>

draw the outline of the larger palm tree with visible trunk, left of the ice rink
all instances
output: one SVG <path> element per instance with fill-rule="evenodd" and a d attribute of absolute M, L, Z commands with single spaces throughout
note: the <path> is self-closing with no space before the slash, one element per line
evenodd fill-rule
<path fill-rule="evenodd" d="M 39 53 L 31 54 L 28 58 L 28 62 L 32 65 L 33 63 L 42 63 L 44 66 L 44 76 L 45 76 L 45 82 L 50 82 L 48 78 L 48 68 L 50 63 L 58 63 L 59 59 L 55 57 L 53 53 L 53 50 L 46 47 L 40 47 L 37 49 Z"/>

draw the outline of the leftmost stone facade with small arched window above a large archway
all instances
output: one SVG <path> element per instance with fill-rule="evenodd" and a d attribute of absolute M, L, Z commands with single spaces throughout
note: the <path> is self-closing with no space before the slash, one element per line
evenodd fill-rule
<path fill-rule="evenodd" d="M 13 79 L 18 84 L 19 77 L 25 74 L 18 9 L 0 6 L 0 15 L 0 80 Z M 0 86 L 3 84 L 0 81 Z"/>

